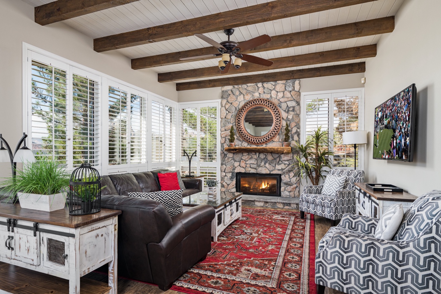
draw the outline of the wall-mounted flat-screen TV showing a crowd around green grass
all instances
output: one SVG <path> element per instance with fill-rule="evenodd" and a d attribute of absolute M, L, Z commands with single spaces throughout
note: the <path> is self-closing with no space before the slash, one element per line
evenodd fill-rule
<path fill-rule="evenodd" d="M 415 84 L 375 108 L 374 159 L 413 160 L 415 115 Z"/>

